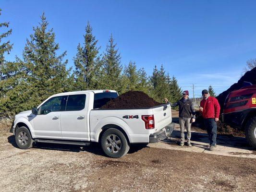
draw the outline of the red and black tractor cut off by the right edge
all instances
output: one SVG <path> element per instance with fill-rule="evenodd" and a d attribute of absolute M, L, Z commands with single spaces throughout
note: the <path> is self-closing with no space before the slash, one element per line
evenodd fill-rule
<path fill-rule="evenodd" d="M 229 93 L 224 103 L 222 120 L 244 130 L 248 143 L 256 148 L 256 85 Z"/>

